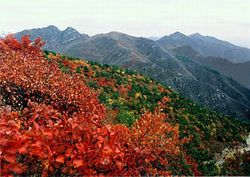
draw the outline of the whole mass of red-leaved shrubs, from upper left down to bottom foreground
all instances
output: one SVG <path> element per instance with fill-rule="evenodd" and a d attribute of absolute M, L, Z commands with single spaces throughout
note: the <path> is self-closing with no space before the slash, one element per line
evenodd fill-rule
<path fill-rule="evenodd" d="M 170 175 L 183 141 L 166 115 L 131 129 L 103 125 L 105 108 L 79 75 L 48 61 L 42 42 L 0 40 L 0 175 Z"/>

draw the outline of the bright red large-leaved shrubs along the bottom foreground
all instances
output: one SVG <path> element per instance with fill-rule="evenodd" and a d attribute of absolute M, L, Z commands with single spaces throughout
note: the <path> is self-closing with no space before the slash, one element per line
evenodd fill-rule
<path fill-rule="evenodd" d="M 170 157 L 180 151 L 178 127 L 163 123 L 164 114 L 146 113 L 131 130 L 123 125 L 93 129 L 78 117 L 35 103 L 0 115 L 3 174 L 60 169 L 82 175 L 169 175 Z"/>

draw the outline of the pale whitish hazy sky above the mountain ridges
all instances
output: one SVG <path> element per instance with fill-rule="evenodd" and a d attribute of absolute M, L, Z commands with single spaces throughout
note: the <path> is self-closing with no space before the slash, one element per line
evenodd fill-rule
<path fill-rule="evenodd" d="M 51 24 L 89 35 L 199 32 L 250 48 L 250 0 L 0 0 L 0 32 Z"/>

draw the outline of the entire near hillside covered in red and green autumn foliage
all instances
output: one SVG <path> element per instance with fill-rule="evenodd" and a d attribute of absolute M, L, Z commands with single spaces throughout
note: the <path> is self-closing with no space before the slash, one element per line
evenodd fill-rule
<path fill-rule="evenodd" d="M 1 173 L 249 174 L 247 153 L 215 161 L 245 141 L 249 123 L 135 71 L 40 46 L 28 38 L 0 41 Z"/>

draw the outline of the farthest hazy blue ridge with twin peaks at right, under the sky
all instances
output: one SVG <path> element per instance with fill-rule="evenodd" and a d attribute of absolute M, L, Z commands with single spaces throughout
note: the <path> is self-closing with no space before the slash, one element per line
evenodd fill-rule
<path fill-rule="evenodd" d="M 180 32 L 164 36 L 157 41 L 166 49 L 189 45 L 203 56 L 214 56 L 228 59 L 234 63 L 250 61 L 250 49 L 233 45 L 210 36 L 199 33 L 186 36 Z"/>

